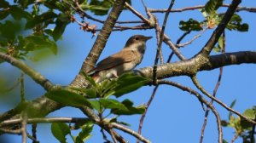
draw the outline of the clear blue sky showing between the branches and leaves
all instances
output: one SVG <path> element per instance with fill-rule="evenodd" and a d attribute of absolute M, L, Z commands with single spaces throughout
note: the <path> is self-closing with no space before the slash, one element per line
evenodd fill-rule
<path fill-rule="evenodd" d="M 195 0 L 181 0 L 176 1 L 173 9 L 195 6 L 205 4 L 207 1 L 195 1 Z M 143 13 L 143 5 L 140 1 L 131 1 L 132 6 L 139 12 Z M 153 1 L 146 0 L 148 8 L 152 9 L 166 9 L 169 1 Z M 230 3 L 226 0 L 224 3 Z M 256 2 L 252 0 L 244 0 L 241 6 L 256 7 Z M 224 12 L 225 9 L 220 9 Z M 255 50 L 255 34 L 256 34 L 256 16 L 253 13 L 239 12 L 242 21 L 249 24 L 249 31 L 226 31 L 226 52 Z M 164 18 L 164 14 L 156 14 L 160 20 L 160 26 Z M 102 20 L 106 19 L 106 16 L 98 17 Z M 169 15 L 166 24 L 166 34 L 171 37 L 173 42 L 177 41 L 177 38 L 183 34 L 178 28 L 180 20 L 189 20 L 194 18 L 195 20 L 203 20 L 199 10 L 187 11 L 183 13 L 171 13 Z M 130 11 L 123 11 L 119 16 L 119 20 L 138 20 L 136 16 L 131 14 Z M 90 21 L 90 20 L 88 20 Z M 90 21 L 90 24 L 96 24 L 98 28 L 102 25 Z M 106 58 L 110 54 L 114 54 L 123 48 L 126 40 L 135 34 L 142 34 L 145 36 L 152 36 L 153 38 L 147 42 L 147 50 L 144 55 L 142 63 L 137 66 L 137 69 L 145 66 L 154 65 L 154 55 L 156 53 L 156 38 L 154 30 L 146 31 L 113 31 L 108 39 L 106 48 L 103 50 L 100 60 Z M 189 41 L 192 37 L 198 34 L 198 31 L 192 32 L 189 37 L 183 39 L 183 42 Z M 182 54 L 187 58 L 191 58 L 198 53 L 200 49 L 205 45 L 207 39 L 211 36 L 212 30 L 206 31 L 202 37 L 199 37 L 191 45 L 184 49 L 180 49 Z M 84 58 L 89 53 L 90 48 L 95 42 L 96 37 L 91 38 L 91 33 L 79 30 L 79 26 L 75 23 L 67 26 L 67 29 L 63 35 L 63 39 L 58 42 L 59 52 L 56 55 L 49 56 L 46 60 L 39 60 L 37 62 L 26 60 L 29 66 L 33 69 L 41 72 L 44 77 L 49 78 L 50 81 L 56 84 L 67 85 L 72 82 L 73 78 L 78 74 L 81 64 Z M 170 48 L 163 43 L 162 49 L 164 53 L 164 59 L 166 60 L 170 54 Z M 212 52 L 211 54 L 217 54 Z M 173 61 L 177 61 L 177 57 L 174 57 Z M 8 63 L 0 65 L 1 77 L 6 77 L 7 84 L 15 82 L 15 79 L 19 77 L 20 71 L 10 66 Z M 253 64 L 243 64 L 239 66 L 225 66 L 222 81 L 218 89 L 217 98 L 222 100 L 225 104 L 230 105 L 233 100 L 236 100 L 236 109 L 238 112 L 244 112 L 247 108 L 251 108 L 256 105 L 256 66 Z M 210 72 L 199 72 L 197 77 L 201 85 L 207 89 L 209 93 L 215 87 L 218 80 L 219 69 L 212 70 Z M 189 77 L 171 77 L 168 80 L 182 83 L 185 86 L 195 89 L 195 85 L 191 82 Z M 37 83 L 34 83 L 30 77 L 26 76 L 26 98 L 29 100 L 36 99 L 45 91 Z M 126 94 L 119 100 L 130 99 L 134 101 L 135 105 L 141 105 L 147 103 L 150 95 L 152 94 L 154 87 L 145 86 L 131 94 Z M 2 98 L 0 100 L 1 109 L 0 112 L 5 112 L 8 109 L 15 106 L 18 103 L 19 92 L 14 91 L 10 98 Z M 206 97 L 206 96 L 204 96 Z M 222 106 L 214 103 L 217 108 L 220 117 L 222 119 L 228 118 L 228 111 Z M 205 112 L 202 110 L 201 103 L 195 98 L 194 95 L 183 92 L 180 89 L 173 88 L 171 86 L 161 85 L 157 90 L 152 105 L 148 108 L 148 113 L 144 120 L 142 134 L 154 143 L 168 143 L 168 142 L 199 142 L 201 136 L 201 126 L 204 120 Z M 65 107 L 59 111 L 52 112 L 48 117 L 84 117 L 82 112 L 72 107 Z M 140 116 L 123 116 L 120 117 L 120 121 L 131 124 L 131 129 L 137 130 Z M 28 127 L 30 129 L 30 127 Z M 234 130 L 231 128 L 223 128 L 224 139 L 230 140 L 234 136 Z M 124 134 L 125 139 L 130 142 L 135 142 L 135 138 L 130 135 Z M 78 134 L 78 132 L 72 132 L 72 134 Z M 9 142 L 21 142 L 21 136 L 18 135 L 5 135 Z M 1 137 L 0 137 L 1 139 Z M 110 139 L 110 138 L 109 138 Z M 38 140 L 42 143 L 55 143 L 58 142 L 55 137 L 50 133 L 50 124 L 42 123 L 38 124 Z M 72 142 L 70 137 L 67 137 L 68 142 Z M 216 118 L 210 112 L 207 122 L 207 129 L 205 131 L 204 142 L 214 143 L 218 141 L 218 130 L 216 124 Z M 28 140 L 28 142 L 32 142 Z M 95 126 L 91 138 L 87 141 L 103 142 L 100 129 Z M 241 142 L 241 139 L 237 139 L 236 142 Z"/>

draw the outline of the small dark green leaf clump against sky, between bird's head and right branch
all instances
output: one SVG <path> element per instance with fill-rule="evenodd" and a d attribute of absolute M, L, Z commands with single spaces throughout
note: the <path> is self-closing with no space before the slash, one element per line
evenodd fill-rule
<path fill-rule="evenodd" d="M 202 26 L 197 20 L 189 19 L 187 21 L 181 20 L 179 22 L 179 29 L 182 31 L 201 31 Z"/>

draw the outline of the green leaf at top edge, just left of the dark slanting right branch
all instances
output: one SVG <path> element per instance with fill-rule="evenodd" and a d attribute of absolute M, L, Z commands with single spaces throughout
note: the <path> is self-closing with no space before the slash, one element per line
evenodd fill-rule
<path fill-rule="evenodd" d="M 216 10 L 223 4 L 224 0 L 209 0 L 205 5 L 207 14 L 216 14 Z"/>

